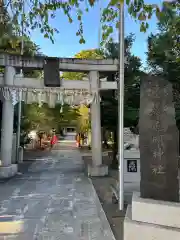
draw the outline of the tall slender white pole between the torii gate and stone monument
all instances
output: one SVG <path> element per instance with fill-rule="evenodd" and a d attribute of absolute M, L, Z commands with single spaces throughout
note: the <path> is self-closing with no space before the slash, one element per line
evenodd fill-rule
<path fill-rule="evenodd" d="M 119 120 L 119 210 L 124 209 L 124 4 L 120 5 L 119 24 L 119 87 L 118 87 L 118 120 Z"/>

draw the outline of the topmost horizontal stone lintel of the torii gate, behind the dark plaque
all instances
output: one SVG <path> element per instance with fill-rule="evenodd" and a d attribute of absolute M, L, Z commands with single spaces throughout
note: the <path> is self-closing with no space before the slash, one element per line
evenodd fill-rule
<path fill-rule="evenodd" d="M 16 68 L 33 68 L 43 69 L 44 61 L 46 59 L 58 59 L 60 71 L 118 71 L 119 61 L 118 59 L 78 59 L 78 58 L 53 58 L 45 56 L 20 56 L 20 55 L 9 55 L 6 53 L 0 53 L 0 66 L 6 65 L 13 66 Z"/>

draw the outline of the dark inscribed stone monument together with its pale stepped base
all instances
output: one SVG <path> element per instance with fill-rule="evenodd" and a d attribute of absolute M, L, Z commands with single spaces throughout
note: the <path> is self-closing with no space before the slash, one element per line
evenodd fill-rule
<path fill-rule="evenodd" d="M 180 239 L 178 129 L 172 85 L 149 76 L 140 96 L 140 193 L 133 193 L 124 240 Z"/>

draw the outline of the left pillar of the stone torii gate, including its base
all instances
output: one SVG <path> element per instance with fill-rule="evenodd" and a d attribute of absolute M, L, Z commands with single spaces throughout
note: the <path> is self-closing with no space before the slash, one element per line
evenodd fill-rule
<path fill-rule="evenodd" d="M 15 77 L 15 68 L 12 66 L 5 67 L 4 84 L 13 85 Z M 1 164 L 0 179 L 9 178 L 17 173 L 17 165 L 11 164 L 12 143 L 13 143 L 13 121 L 14 106 L 11 99 L 3 99 L 2 108 L 2 125 L 1 125 Z"/>

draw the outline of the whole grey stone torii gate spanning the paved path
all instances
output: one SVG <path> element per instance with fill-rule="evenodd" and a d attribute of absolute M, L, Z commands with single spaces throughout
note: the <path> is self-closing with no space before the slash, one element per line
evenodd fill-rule
<path fill-rule="evenodd" d="M 14 93 L 22 92 L 26 94 L 47 93 L 51 90 L 54 95 L 49 95 L 49 99 L 55 98 L 58 93 L 71 90 L 71 93 L 84 91 L 91 95 L 91 127 L 92 127 L 92 165 L 88 166 L 88 174 L 91 176 L 104 176 L 108 174 L 108 166 L 102 165 L 102 144 L 101 144 L 101 116 L 99 91 L 117 89 L 117 82 L 100 81 L 99 72 L 118 71 L 118 61 L 116 60 L 82 60 L 74 58 L 59 58 L 59 71 L 86 72 L 89 74 L 88 81 L 65 80 L 59 78 L 59 88 L 49 88 L 44 86 L 43 79 L 22 78 L 16 74 L 16 69 L 23 68 L 37 70 L 44 68 L 44 57 L 26 58 L 22 56 L 0 54 L 0 66 L 5 67 L 4 76 L 0 77 L 1 95 L 3 95 L 2 110 L 2 134 L 1 134 L 1 166 L 0 178 L 11 177 L 17 172 L 17 165 L 11 163 L 12 137 L 14 106 L 12 100 Z M 23 64 L 22 64 L 23 63 Z M 18 95 L 18 94 L 17 94 Z M 17 96 L 16 95 L 16 96 Z M 16 101 L 18 101 L 16 99 Z M 49 102 L 50 100 L 47 100 Z"/>

